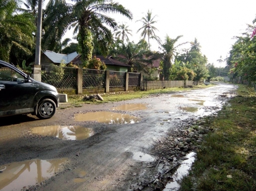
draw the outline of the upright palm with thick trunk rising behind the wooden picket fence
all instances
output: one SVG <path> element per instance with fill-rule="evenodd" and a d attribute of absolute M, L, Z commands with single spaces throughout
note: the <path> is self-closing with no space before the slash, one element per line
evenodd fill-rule
<path fill-rule="evenodd" d="M 169 76 L 171 74 L 171 67 L 172 67 L 172 61 L 174 59 L 176 50 L 179 46 L 186 44 L 185 43 L 181 43 L 177 46 L 175 46 L 175 43 L 182 37 L 183 35 L 177 36 L 176 38 L 172 39 L 170 38 L 168 35 L 166 35 L 165 37 L 165 42 L 163 43 L 161 40 L 158 40 L 159 45 L 160 45 L 160 49 L 161 51 L 163 51 L 163 53 L 161 53 L 162 55 L 162 61 L 163 61 L 163 75 L 164 75 L 164 79 L 168 80 Z"/>

